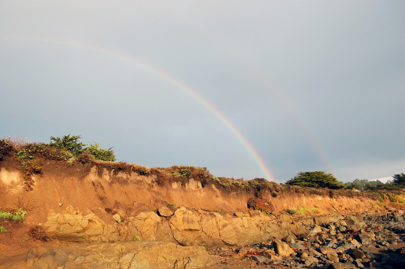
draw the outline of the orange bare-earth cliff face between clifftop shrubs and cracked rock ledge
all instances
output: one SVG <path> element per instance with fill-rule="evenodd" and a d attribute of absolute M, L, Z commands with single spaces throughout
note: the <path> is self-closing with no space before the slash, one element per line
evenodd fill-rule
<path fill-rule="evenodd" d="M 156 175 L 140 175 L 111 165 L 80 162 L 69 165 L 54 160 L 36 160 L 42 166 L 42 173 L 33 177 L 32 191 L 23 188 L 20 161 L 8 157 L 0 162 L 2 207 L 12 207 L 16 199 L 30 201 L 38 208 L 37 214 L 45 219 L 49 209 L 58 211 L 68 205 L 83 212 L 116 208 L 131 214 L 156 211 L 159 206 L 170 203 L 177 207 L 233 214 L 252 210 L 248 208 L 248 200 L 260 196 L 271 202 L 276 212 L 288 208 L 313 215 L 381 209 L 378 201 L 359 195 L 297 193 L 283 188 L 275 194 L 255 188 L 222 187 L 215 181 L 202 182 L 199 178 L 176 178 L 158 185 Z"/>

